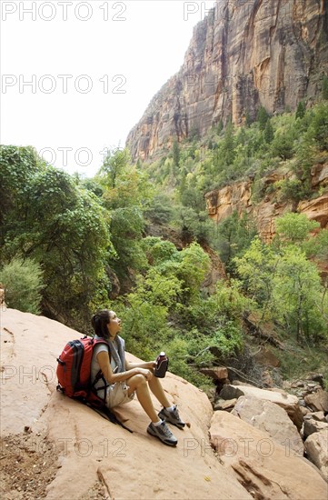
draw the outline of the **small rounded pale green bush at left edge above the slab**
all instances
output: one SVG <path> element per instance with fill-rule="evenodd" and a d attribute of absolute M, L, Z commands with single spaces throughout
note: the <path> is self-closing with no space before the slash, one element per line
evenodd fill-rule
<path fill-rule="evenodd" d="M 43 273 L 33 259 L 13 258 L 0 270 L 0 281 L 5 285 L 6 305 L 25 313 L 40 314 Z"/>

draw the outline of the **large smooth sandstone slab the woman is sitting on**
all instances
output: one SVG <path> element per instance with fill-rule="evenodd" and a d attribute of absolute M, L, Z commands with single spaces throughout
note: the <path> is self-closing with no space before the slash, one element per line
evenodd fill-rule
<path fill-rule="evenodd" d="M 199 498 L 212 499 L 218 491 L 223 499 L 252 499 L 214 455 L 208 438 L 213 409 L 207 396 L 183 378 L 168 373 L 163 379 L 170 402 L 179 405 L 190 425 L 173 429 L 179 440 L 175 448 L 147 434 L 149 418 L 136 398 L 116 411 L 133 431 L 130 434 L 58 393 L 56 357 L 67 341 L 79 337 L 75 330 L 42 316 L 13 309 L 1 313 L 2 436 L 9 440 L 16 435 L 18 440 L 5 446 L 2 454 L 2 465 L 7 464 L 0 485 L 4 500 L 40 496 L 77 500 L 104 495 L 112 499 L 187 499 L 195 492 Z M 127 357 L 136 361 L 133 355 Z M 161 408 L 155 399 L 154 406 L 156 411 Z M 25 447 L 24 435 L 35 446 L 28 461 L 37 462 L 40 468 L 31 465 L 25 483 L 16 486 L 17 476 L 22 480 L 27 466 L 19 456 Z M 55 463 L 54 474 L 46 477 L 49 454 Z M 45 495 L 24 493 L 27 485 L 42 481 Z M 102 496 L 100 486 L 104 487 Z"/>

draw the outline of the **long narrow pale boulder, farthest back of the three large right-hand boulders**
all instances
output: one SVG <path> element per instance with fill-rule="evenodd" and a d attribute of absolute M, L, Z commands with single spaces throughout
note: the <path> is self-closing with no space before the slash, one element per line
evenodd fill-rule
<path fill-rule="evenodd" d="M 221 397 L 224 397 L 223 392 L 226 390 L 225 387 L 229 386 L 224 386 L 220 393 Z M 229 395 L 231 395 L 231 397 L 224 397 L 224 399 L 232 399 L 233 397 L 239 397 L 240 395 L 247 395 L 256 397 L 257 399 L 263 399 L 264 401 L 271 401 L 275 405 L 281 406 L 287 412 L 288 416 L 292 420 L 293 424 L 296 425 L 298 430 L 301 429 L 303 425 L 303 413 L 301 412 L 298 399 L 295 395 L 289 395 L 281 390 L 270 391 L 259 389 L 258 387 L 250 385 L 238 385 L 238 387 L 230 385 L 230 387 L 231 389 L 229 389 Z"/>

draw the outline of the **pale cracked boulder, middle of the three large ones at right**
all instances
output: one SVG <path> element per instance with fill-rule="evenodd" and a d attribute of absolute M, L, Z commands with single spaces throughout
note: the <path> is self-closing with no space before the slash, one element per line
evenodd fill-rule
<path fill-rule="evenodd" d="M 280 445 L 290 445 L 297 455 L 303 455 L 303 441 L 293 422 L 279 405 L 255 397 L 242 395 L 234 409 L 233 415 L 238 416 L 247 424 L 271 435 Z"/>

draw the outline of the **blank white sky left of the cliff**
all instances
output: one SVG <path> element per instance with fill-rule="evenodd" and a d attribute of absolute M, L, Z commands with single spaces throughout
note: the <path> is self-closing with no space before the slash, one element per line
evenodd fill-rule
<path fill-rule="evenodd" d="M 179 70 L 214 0 L 0 4 L 1 144 L 92 176 Z"/>

